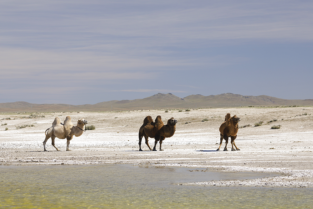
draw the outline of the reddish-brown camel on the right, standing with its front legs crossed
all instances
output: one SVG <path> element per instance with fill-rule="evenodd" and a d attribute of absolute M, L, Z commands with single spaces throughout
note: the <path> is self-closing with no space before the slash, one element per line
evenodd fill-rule
<path fill-rule="evenodd" d="M 230 143 L 232 144 L 232 151 L 240 150 L 235 144 L 235 139 L 237 138 L 237 132 L 239 129 L 238 126 L 239 121 L 241 120 L 236 115 L 230 117 L 230 113 L 226 114 L 224 123 L 222 123 L 222 125 L 219 127 L 219 132 L 221 133 L 221 142 L 216 151 L 220 150 L 223 139 L 226 140 L 226 146 L 224 148 L 224 151 L 228 151 L 227 149 L 228 137 L 231 138 Z M 234 148 L 234 146 L 236 149 Z"/>

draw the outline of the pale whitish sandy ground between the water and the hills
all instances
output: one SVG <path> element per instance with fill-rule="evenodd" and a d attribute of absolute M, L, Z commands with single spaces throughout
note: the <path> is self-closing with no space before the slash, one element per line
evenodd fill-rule
<path fill-rule="evenodd" d="M 218 128 L 226 113 L 241 121 L 236 145 L 240 151 L 216 151 L 220 141 Z M 215 168 L 221 172 L 253 171 L 277 173 L 275 177 L 252 180 L 221 180 L 186 183 L 214 186 L 313 187 L 313 107 L 238 107 L 121 112 L 49 112 L 33 113 L 39 118 L 24 118 L 31 113 L 1 113 L 0 165 L 73 165 L 73 164 L 153 164 Z M 70 115 L 72 122 L 88 120 L 95 130 L 74 137 L 66 150 L 66 139 L 51 139 L 43 152 L 44 131 L 56 116 L 61 121 Z M 144 140 L 138 151 L 138 130 L 143 119 L 162 116 L 163 123 L 178 120 L 173 137 L 163 141 L 164 151 L 150 151 Z M 10 119 L 9 119 L 10 118 Z M 208 119 L 204 121 L 203 119 Z M 276 119 L 277 121 L 269 121 Z M 263 125 L 254 124 L 263 121 Z M 5 125 L 6 124 L 6 125 Z M 33 127 L 17 128 L 23 125 Z M 281 125 L 280 129 L 271 129 Z M 5 130 L 8 128 L 8 130 Z M 154 139 L 150 139 L 153 147 Z M 225 142 L 225 141 L 224 141 Z M 230 140 L 229 140 L 230 142 Z M 221 148 L 224 148 L 223 143 Z M 159 144 L 157 144 L 159 148 Z M 221 149 L 223 150 L 223 149 Z M 191 169 L 192 170 L 192 169 Z M 203 170 L 194 169 L 194 172 Z"/>

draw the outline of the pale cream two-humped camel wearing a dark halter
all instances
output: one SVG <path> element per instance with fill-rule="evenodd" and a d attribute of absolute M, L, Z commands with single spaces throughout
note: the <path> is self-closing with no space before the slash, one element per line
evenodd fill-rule
<path fill-rule="evenodd" d="M 71 122 L 71 117 L 66 116 L 64 123 L 61 123 L 61 120 L 59 117 L 54 118 L 54 122 L 52 123 L 52 126 L 48 128 L 44 134 L 46 135 L 46 138 L 44 139 L 44 151 L 46 150 L 46 142 L 51 137 L 52 146 L 54 146 L 54 138 L 60 138 L 60 139 L 67 139 L 67 146 L 66 151 L 71 151 L 69 149 L 69 141 L 72 140 L 73 136 L 76 137 L 81 136 L 84 131 L 84 126 L 88 123 L 88 121 L 84 120 L 84 118 L 80 118 L 77 121 L 77 125 L 74 126 Z M 60 151 L 56 146 L 54 146 L 55 149 Z"/>

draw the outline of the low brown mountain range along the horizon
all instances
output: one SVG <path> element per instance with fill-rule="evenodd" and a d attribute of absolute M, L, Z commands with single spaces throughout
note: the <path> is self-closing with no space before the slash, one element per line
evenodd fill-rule
<path fill-rule="evenodd" d="M 190 95 L 184 98 L 171 93 L 155 94 L 151 97 L 135 100 L 112 100 L 97 104 L 69 105 L 69 104 L 31 104 L 28 102 L 0 103 L 0 112 L 98 112 L 119 110 L 149 110 L 149 109 L 184 109 L 208 107 L 241 107 L 241 106 L 313 106 L 313 99 L 289 100 L 276 97 L 243 96 L 240 94 L 219 94 L 203 96 Z"/>

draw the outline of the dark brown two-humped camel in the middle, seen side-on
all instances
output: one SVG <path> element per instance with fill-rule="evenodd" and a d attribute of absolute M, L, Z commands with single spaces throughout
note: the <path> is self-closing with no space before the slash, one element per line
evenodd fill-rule
<path fill-rule="evenodd" d="M 167 124 L 164 125 L 161 116 L 157 116 L 155 122 L 153 122 L 153 119 L 151 116 L 147 116 L 144 121 L 143 125 L 139 129 L 139 151 L 142 151 L 141 149 L 141 139 L 142 137 L 145 137 L 146 139 L 146 145 L 148 145 L 150 150 L 156 151 L 156 144 L 158 141 L 160 141 L 160 151 L 163 151 L 162 147 L 162 141 L 165 138 L 172 137 L 175 133 L 176 129 L 176 123 L 178 121 L 174 118 L 170 118 L 167 120 Z M 148 143 L 148 138 L 154 138 L 154 148 L 151 149 Z"/>

